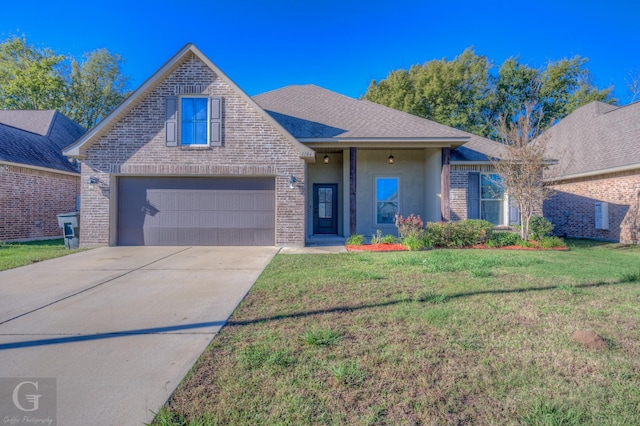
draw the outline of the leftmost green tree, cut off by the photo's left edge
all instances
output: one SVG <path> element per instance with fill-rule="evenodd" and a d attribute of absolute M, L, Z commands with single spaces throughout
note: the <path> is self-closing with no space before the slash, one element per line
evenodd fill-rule
<path fill-rule="evenodd" d="M 24 38 L 0 44 L 0 108 L 59 109 L 64 105 L 64 56 L 37 49 Z"/>

